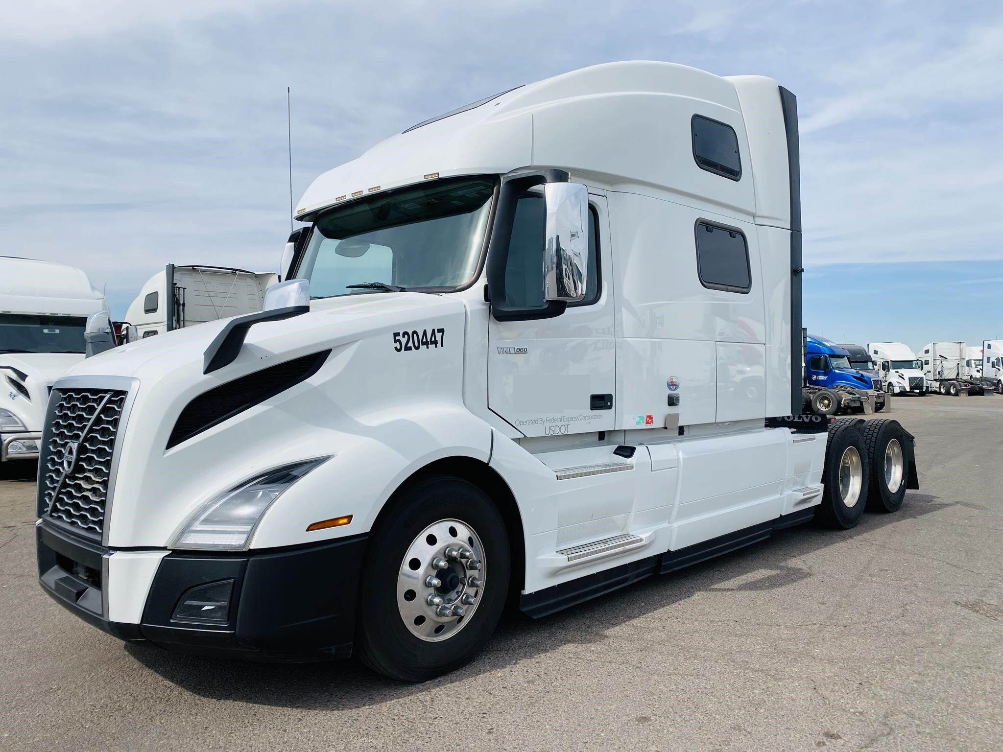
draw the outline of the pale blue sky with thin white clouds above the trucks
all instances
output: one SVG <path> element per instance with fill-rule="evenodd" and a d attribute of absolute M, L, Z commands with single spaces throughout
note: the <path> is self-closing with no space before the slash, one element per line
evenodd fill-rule
<path fill-rule="evenodd" d="M 168 262 L 275 269 L 287 85 L 298 198 L 428 116 L 632 58 L 797 94 L 812 332 L 1003 333 L 1003 5 L 963 0 L 3 3 L 0 254 L 81 267 L 119 316 Z"/>

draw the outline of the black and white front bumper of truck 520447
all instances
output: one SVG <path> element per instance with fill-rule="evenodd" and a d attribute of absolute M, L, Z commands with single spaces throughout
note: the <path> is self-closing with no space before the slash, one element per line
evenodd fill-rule
<path fill-rule="evenodd" d="M 199 553 L 114 551 L 45 520 L 36 530 L 42 589 L 120 640 L 262 661 L 351 655 L 365 534 L 288 549 Z M 143 570 L 151 575 L 145 582 Z M 233 581 L 227 624 L 173 618 L 189 590 L 221 581 Z M 130 609 L 129 599 L 144 586 L 145 599 Z M 122 616 L 135 623 L 116 621 Z"/>

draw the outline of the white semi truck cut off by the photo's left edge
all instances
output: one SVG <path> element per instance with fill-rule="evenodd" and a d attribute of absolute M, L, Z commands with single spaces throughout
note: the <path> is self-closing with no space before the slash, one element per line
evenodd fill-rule
<path fill-rule="evenodd" d="M 83 360 L 87 316 L 107 310 L 79 269 L 0 257 L 0 470 L 38 458 L 49 387 Z"/>

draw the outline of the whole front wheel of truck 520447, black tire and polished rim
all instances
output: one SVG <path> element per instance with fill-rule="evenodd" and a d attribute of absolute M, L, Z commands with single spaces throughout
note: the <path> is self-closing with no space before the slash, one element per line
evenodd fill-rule
<path fill-rule="evenodd" d="M 359 657 L 401 682 L 470 662 L 509 594 L 505 520 L 490 498 L 454 477 L 421 480 L 373 528 L 359 594 Z"/>

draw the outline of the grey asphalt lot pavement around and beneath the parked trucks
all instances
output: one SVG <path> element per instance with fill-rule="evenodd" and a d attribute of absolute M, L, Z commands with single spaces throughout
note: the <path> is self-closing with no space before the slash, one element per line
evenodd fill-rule
<path fill-rule="evenodd" d="M 900 512 L 509 616 L 423 685 L 119 643 L 41 592 L 34 482 L 0 481 L 0 750 L 998 750 L 1003 396 L 891 417 L 922 486 Z"/>

